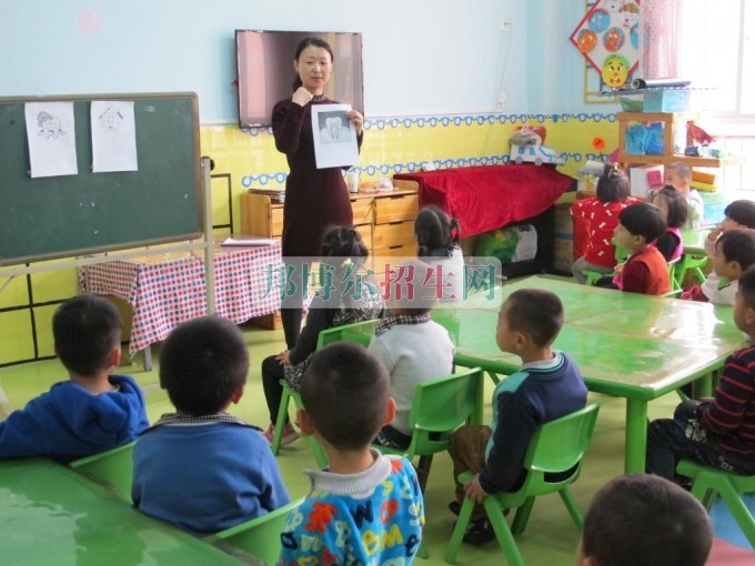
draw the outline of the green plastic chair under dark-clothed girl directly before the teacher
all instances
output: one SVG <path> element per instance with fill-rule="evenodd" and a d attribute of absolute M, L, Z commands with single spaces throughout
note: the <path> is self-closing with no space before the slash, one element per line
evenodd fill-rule
<path fill-rule="evenodd" d="M 366 346 L 370 344 L 370 340 L 375 335 L 375 326 L 380 323 L 379 319 L 371 319 L 369 321 L 354 322 L 352 324 L 344 324 L 342 326 L 334 326 L 332 329 L 324 330 L 320 332 L 318 336 L 316 350 L 325 347 L 333 342 L 341 340 L 348 340 L 351 342 L 356 342 Z M 271 448 L 273 454 L 278 456 L 281 451 L 281 437 L 283 434 L 283 426 L 285 425 L 285 417 L 289 414 L 289 402 L 293 401 L 296 408 L 303 408 L 301 395 L 298 391 L 293 391 L 289 387 L 285 380 L 281 380 L 280 384 L 283 386 L 283 396 L 281 397 L 281 404 L 278 408 L 278 420 L 275 422 L 275 433 L 273 434 L 273 442 L 271 443 Z M 310 444 L 314 459 L 318 462 L 318 466 L 323 468 L 328 466 L 328 457 L 325 456 L 325 451 L 323 451 L 320 443 L 314 438 L 314 436 L 308 436 L 306 441 Z"/>

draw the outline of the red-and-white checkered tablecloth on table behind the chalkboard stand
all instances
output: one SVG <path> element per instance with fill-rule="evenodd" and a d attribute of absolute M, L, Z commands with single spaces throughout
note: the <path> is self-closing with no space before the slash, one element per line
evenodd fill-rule
<path fill-rule="evenodd" d="M 280 244 L 217 247 L 215 312 L 236 324 L 281 307 L 280 289 L 271 274 L 282 265 Z M 84 292 L 114 295 L 133 310 L 129 353 L 168 337 L 179 323 L 207 314 L 204 255 L 119 260 L 82 267 Z"/>

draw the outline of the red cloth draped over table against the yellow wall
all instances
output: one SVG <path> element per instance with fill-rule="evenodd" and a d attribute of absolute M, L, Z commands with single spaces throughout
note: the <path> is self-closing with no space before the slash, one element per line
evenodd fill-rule
<path fill-rule="evenodd" d="M 459 220 L 469 237 L 544 212 L 574 179 L 533 163 L 401 173 L 420 183 L 420 206 L 434 204 Z"/>

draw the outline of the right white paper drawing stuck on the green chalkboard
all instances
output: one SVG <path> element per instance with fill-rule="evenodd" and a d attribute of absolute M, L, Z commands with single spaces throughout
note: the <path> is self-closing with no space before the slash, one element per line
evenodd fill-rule
<path fill-rule="evenodd" d="M 133 101 L 93 100 L 92 171 L 137 171 L 137 127 Z"/>

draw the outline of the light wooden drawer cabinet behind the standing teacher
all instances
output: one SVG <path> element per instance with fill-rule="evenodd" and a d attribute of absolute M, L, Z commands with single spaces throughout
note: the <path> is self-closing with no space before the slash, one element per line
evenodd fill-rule
<path fill-rule="evenodd" d="M 363 189 L 371 183 L 362 183 Z M 414 219 L 420 206 L 417 182 L 395 180 L 390 193 L 359 192 L 351 194 L 354 228 L 370 250 L 371 257 L 415 256 Z M 312 211 L 316 214 L 316 211 Z M 266 194 L 241 195 L 241 232 L 263 237 L 283 234 L 283 204 L 272 202 Z M 280 313 L 263 316 L 256 324 L 280 329 Z"/>

